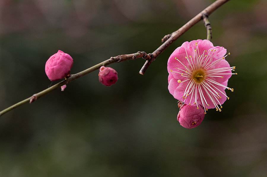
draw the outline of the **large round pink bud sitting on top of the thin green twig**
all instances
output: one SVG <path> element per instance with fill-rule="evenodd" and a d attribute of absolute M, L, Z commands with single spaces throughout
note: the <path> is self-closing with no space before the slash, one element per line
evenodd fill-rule
<path fill-rule="evenodd" d="M 58 50 L 45 63 L 45 73 L 50 81 L 56 81 L 69 75 L 73 59 L 69 54 Z"/>

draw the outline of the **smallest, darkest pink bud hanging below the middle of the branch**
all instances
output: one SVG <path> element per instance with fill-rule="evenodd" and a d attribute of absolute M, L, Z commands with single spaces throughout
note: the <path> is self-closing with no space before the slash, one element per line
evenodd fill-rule
<path fill-rule="evenodd" d="M 118 73 L 111 67 L 101 66 L 98 73 L 99 82 L 105 86 L 111 86 L 118 80 Z"/>

